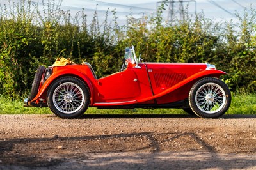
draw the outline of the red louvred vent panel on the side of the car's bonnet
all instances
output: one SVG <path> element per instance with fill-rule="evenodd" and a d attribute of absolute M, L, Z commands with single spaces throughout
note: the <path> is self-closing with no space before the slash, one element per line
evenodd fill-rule
<path fill-rule="evenodd" d="M 187 78 L 186 73 L 154 73 L 157 88 L 171 87 Z"/>

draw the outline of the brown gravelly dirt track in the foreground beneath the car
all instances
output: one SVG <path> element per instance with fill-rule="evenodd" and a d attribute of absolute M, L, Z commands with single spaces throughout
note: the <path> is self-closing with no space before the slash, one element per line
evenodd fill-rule
<path fill-rule="evenodd" d="M 0 115 L 0 169 L 256 169 L 256 115 Z"/>

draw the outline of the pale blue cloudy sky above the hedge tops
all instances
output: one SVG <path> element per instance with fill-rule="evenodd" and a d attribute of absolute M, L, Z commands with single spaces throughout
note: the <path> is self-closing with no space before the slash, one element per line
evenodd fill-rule
<path fill-rule="evenodd" d="M 11 0 L 12 1 L 12 0 Z M 13 2 L 19 2 L 20 0 L 13 0 Z M 28 1 L 28 0 L 25 0 Z M 42 3 L 43 0 L 32 0 L 34 2 Z M 48 0 L 44 0 L 46 3 Z M 59 0 L 55 0 L 58 2 Z M 81 11 L 82 8 L 85 9 L 88 15 L 88 21 L 92 19 L 93 12 L 97 6 L 99 21 L 103 22 L 105 18 L 106 10 L 114 10 L 117 12 L 118 22 L 120 24 L 125 23 L 125 16 L 129 15 L 132 8 L 132 13 L 134 17 L 141 17 L 141 13 L 153 13 L 156 12 L 157 1 L 160 0 L 63 0 L 62 8 L 63 10 L 70 10 L 72 15 Z M 176 0 L 179 1 L 179 0 Z M 52 1 L 51 1 L 52 2 Z M 0 4 L 8 3 L 8 0 L 0 0 Z M 97 5 L 98 4 L 98 5 Z M 205 17 L 220 22 L 221 20 L 234 20 L 237 18 L 234 16 L 235 12 L 243 14 L 244 8 L 250 8 L 252 4 L 253 8 L 256 8 L 256 1 L 254 0 L 196 0 L 196 12 L 204 11 Z M 178 5 L 178 4 L 177 4 Z M 189 12 L 193 13 L 195 11 L 195 3 L 184 3 L 184 6 L 188 5 Z M 168 7 L 166 7 L 168 8 Z M 178 7 L 176 7 L 178 8 Z M 164 13 L 164 17 L 167 17 L 167 11 Z M 111 20 L 111 14 L 109 14 L 109 20 Z"/>

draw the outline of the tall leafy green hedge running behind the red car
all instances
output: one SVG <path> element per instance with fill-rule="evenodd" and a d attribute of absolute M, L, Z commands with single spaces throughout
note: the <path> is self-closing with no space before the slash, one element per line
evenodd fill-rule
<path fill-rule="evenodd" d="M 28 95 L 38 65 L 52 65 L 60 56 L 91 63 L 98 77 L 117 72 L 124 49 L 130 45 L 143 61 L 212 63 L 228 73 L 222 79 L 232 91 L 256 91 L 253 8 L 237 15 L 236 24 L 215 23 L 204 13 L 166 23 L 161 15 L 163 4 L 155 15 L 139 20 L 129 15 L 127 24 L 120 26 L 115 11 L 113 19 L 106 11 L 100 25 L 97 11 L 88 22 L 84 10 L 70 17 L 56 1 L 43 6 L 42 11 L 25 0 L 1 4 L 0 94 Z"/>

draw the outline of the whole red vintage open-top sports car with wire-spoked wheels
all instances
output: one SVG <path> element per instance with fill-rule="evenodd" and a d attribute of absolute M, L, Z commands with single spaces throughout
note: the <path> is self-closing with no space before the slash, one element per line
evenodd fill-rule
<path fill-rule="evenodd" d="M 39 66 L 24 106 L 49 107 L 60 118 L 77 118 L 88 107 L 180 108 L 217 118 L 231 102 L 227 84 L 218 79 L 223 74 L 207 63 L 143 63 L 132 46 L 125 49 L 120 72 L 100 79 L 85 62 Z"/>

